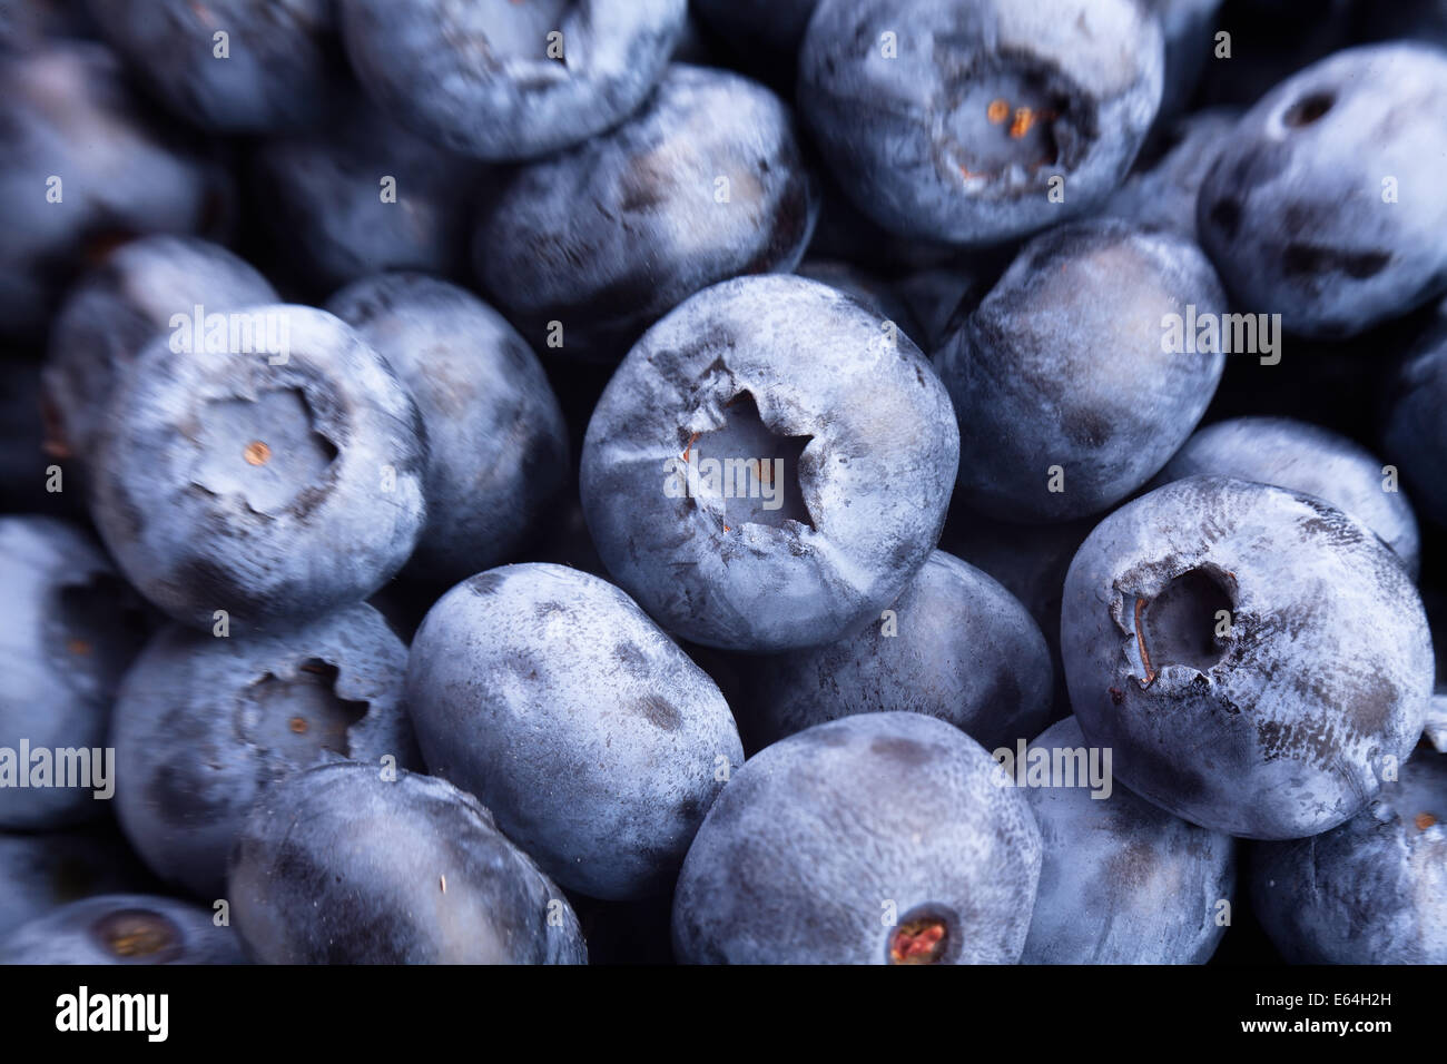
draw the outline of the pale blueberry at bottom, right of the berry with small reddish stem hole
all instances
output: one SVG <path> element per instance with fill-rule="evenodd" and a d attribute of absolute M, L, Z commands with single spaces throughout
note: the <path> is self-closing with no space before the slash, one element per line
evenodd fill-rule
<path fill-rule="evenodd" d="M 1030 747 L 1074 753 L 1087 744 L 1068 717 Z M 1187 824 L 1121 786 L 1095 798 L 1085 782 L 1052 780 L 1024 788 L 1024 796 L 1045 858 L 1022 964 L 1211 958 L 1230 922 L 1236 887 L 1230 835 Z"/>

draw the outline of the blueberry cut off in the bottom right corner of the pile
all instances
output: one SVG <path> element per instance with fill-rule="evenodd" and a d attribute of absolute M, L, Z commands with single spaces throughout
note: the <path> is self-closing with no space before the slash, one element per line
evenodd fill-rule
<path fill-rule="evenodd" d="M 1341 827 L 1257 844 L 1252 903 L 1292 964 L 1447 964 L 1447 756 L 1418 747 Z"/>

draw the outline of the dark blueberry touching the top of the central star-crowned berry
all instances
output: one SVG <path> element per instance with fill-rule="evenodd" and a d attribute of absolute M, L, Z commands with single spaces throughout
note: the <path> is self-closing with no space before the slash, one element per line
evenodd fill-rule
<path fill-rule="evenodd" d="M 538 350 L 616 363 L 693 292 L 792 271 L 818 213 L 784 103 L 738 74 L 674 64 L 628 122 L 519 168 L 482 213 L 473 262 Z"/>

